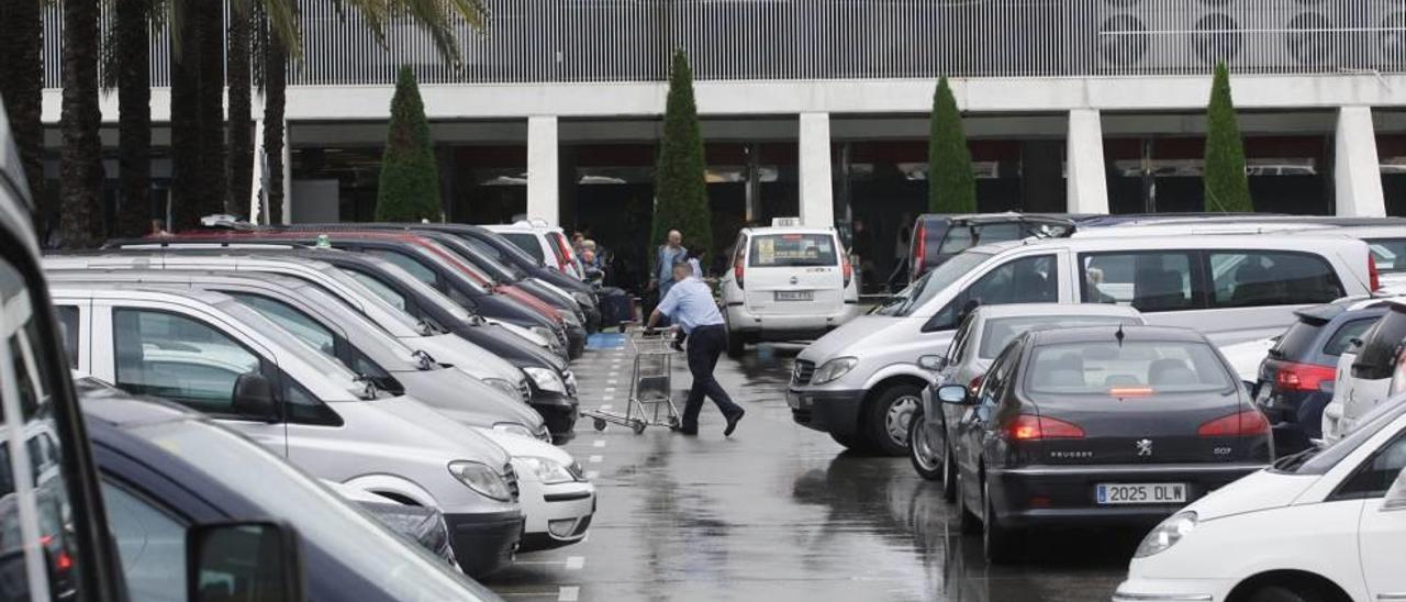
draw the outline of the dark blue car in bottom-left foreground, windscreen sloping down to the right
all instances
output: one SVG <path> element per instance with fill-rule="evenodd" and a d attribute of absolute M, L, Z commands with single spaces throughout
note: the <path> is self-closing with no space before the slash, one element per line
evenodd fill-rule
<path fill-rule="evenodd" d="M 200 414 L 105 391 L 84 395 L 83 412 L 131 599 L 184 599 L 190 525 L 269 518 L 298 526 L 309 599 L 499 599 Z"/>

